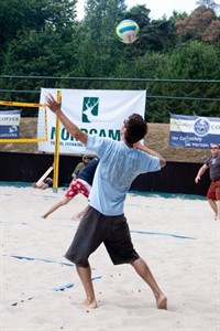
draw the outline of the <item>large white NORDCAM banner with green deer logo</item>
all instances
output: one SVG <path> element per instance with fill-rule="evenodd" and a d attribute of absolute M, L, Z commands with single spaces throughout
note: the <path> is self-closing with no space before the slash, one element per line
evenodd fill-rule
<path fill-rule="evenodd" d="M 45 104 L 46 95 L 52 94 L 56 98 L 55 88 L 41 89 L 41 104 Z M 96 89 L 59 89 L 62 92 L 62 110 L 81 130 L 100 137 L 109 137 L 120 140 L 120 130 L 123 120 L 133 113 L 144 117 L 145 90 L 96 90 Z M 38 150 L 54 152 L 56 116 L 46 109 L 47 115 L 47 141 L 38 142 Z M 38 113 L 37 135 L 42 137 L 44 113 Z M 59 152 L 82 154 L 85 146 L 76 140 L 61 125 Z M 88 153 L 88 151 L 87 151 Z"/>

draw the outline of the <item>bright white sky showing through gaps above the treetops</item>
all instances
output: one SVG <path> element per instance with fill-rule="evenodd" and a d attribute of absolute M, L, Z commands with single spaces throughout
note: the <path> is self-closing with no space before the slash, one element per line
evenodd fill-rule
<path fill-rule="evenodd" d="M 174 10 L 177 12 L 186 11 L 190 14 L 198 7 L 196 2 L 197 0 L 125 0 L 128 9 L 136 4 L 145 4 L 147 9 L 151 9 L 150 18 L 155 20 L 162 19 L 164 14 L 168 19 Z M 216 3 L 219 3 L 219 0 L 216 0 Z M 84 18 L 84 4 L 85 0 L 78 0 L 77 11 L 79 20 Z"/>

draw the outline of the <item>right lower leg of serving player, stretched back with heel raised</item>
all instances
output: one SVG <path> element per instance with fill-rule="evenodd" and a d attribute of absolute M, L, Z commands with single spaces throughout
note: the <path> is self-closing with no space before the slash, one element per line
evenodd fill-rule
<path fill-rule="evenodd" d="M 167 298 L 156 284 L 156 280 L 154 279 L 154 276 L 152 275 L 147 264 L 142 258 L 138 258 L 132 261 L 131 265 L 134 267 L 139 276 L 141 276 L 151 287 L 156 299 L 156 307 L 158 309 L 167 309 Z"/>

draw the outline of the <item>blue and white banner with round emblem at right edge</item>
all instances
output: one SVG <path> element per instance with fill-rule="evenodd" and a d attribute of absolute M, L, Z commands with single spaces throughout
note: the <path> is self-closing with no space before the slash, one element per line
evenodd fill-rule
<path fill-rule="evenodd" d="M 209 149 L 220 143 L 220 117 L 170 114 L 169 146 Z"/>

